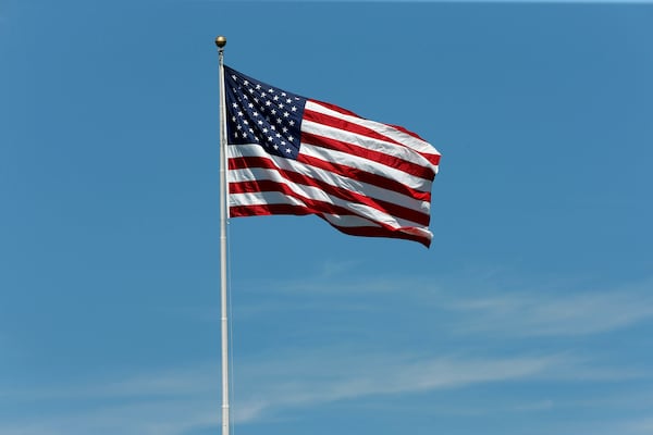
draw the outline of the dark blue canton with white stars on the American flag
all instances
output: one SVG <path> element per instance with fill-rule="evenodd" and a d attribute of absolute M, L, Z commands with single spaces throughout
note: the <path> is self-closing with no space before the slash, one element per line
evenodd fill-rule
<path fill-rule="evenodd" d="M 297 159 L 306 98 L 224 66 L 227 144 L 258 144 L 271 154 Z"/>

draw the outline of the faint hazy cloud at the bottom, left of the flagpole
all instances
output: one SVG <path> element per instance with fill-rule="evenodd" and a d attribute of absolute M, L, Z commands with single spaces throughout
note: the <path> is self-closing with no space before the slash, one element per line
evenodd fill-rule
<path fill-rule="evenodd" d="M 220 423 L 219 368 L 201 364 L 77 385 L 0 394 L 0 408 L 29 409 L 0 423 L 3 435 L 182 435 Z M 65 402 L 65 410 L 57 403 Z M 38 418 L 35 415 L 38 414 Z"/>

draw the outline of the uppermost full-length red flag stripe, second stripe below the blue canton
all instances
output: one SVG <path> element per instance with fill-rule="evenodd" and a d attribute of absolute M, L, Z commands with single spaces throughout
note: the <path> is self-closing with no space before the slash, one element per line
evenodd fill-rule
<path fill-rule="evenodd" d="M 274 170 L 281 176 L 283 176 L 284 178 L 288 179 L 292 183 L 318 188 L 331 197 L 340 198 L 340 199 L 348 201 L 348 202 L 365 204 L 365 206 L 371 207 L 375 210 L 383 211 L 393 216 L 405 219 L 405 220 L 415 222 L 420 225 L 424 225 L 424 226 L 429 225 L 429 213 L 423 213 L 418 210 L 409 209 L 409 208 L 396 204 L 394 202 L 385 201 L 382 199 L 371 198 L 369 196 L 361 195 L 357 191 L 353 191 L 353 190 L 349 190 L 346 188 L 341 188 L 341 187 L 332 186 L 326 183 L 321 183 L 318 179 L 311 178 L 309 176 L 299 174 L 294 171 L 281 170 L 279 167 L 276 167 L 269 159 L 261 159 L 261 158 L 230 159 L 229 166 L 230 166 L 230 170 L 231 169 L 245 169 L 245 167 L 263 167 L 263 169 L 268 169 L 268 170 Z M 242 184 L 242 183 L 249 183 L 249 182 L 231 183 L 230 184 L 230 192 L 237 192 L 235 190 L 232 191 L 232 186 L 234 186 L 234 189 L 236 189 L 235 186 L 238 184 Z M 257 183 L 259 183 L 259 184 L 266 183 L 267 186 L 269 186 L 269 187 L 274 187 L 274 186 L 280 185 L 280 183 L 278 183 L 278 182 L 269 182 L 269 181 L 260 181 Z M 273 185 L 269 185 L 268 183 L 273 183 Z M 286 195 L 294 196 L 294 197 L 299 198 L 305 201 L 304 197 L 297 196 L 297 194 L 289 190 L 285 185 L 283 185 L 283 188 L 284 188 L 284 190 L 280 190 L 279 188 L 264 188 L 264 189 L 259 189 L 258 191 L 283 191 Z M 245 191 L 251 191 L 251 190 L 245 190 Z M 342 213 L 338 212 L 337 214 L 342 214 Z M 352 212 L 348 211 L 346 214 L 352 214 Z"/>

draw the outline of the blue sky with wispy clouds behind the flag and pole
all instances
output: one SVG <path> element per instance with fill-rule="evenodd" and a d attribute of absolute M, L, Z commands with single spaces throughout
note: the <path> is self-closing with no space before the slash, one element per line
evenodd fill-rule
<path fill-rule="evenodd" d="M 218 35 L 443 154 L 431 249 L 231 221 L 235 433 L 652 433 L 634 3 L 1 1 L 0 433 L 219 433 Z"/>

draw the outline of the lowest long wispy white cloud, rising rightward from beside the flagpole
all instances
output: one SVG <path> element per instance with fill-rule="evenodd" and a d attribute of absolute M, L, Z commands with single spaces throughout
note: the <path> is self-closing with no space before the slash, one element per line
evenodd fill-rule
<path fill-rule="evenodd" d="M 368 396 L 417 394 L 480 383 L 541 377 L 565 364 L 566 358 L 543 356 L 421 359 L 389 355 L 355 357 L 341 355 L 336 358 L 324 358 L 324 356 L 313 355 L 308 358 L 295 358 L 292 361 L 292 377 L 286 376 L 286 381 L 263 383 L 262 386 L 257 383 L 256 390 L 242 394 L 244 402 L 258 403 L 259 417 L 264 412 L 284 408 L 307 407 Z M 330 362 L 324 364 L 316 361 Z M 266 368 L 270 370 L 268 362 Z M 279 371 L 274 369 L 274 364 L 272 368 L 273 372 Z M 266 369 L 250 366 L 243 376 L 250 378 L 251 374 L 260 370 Z M 284 378 L 284 376 L 274 377 Z"/>

